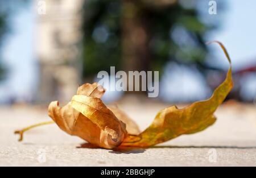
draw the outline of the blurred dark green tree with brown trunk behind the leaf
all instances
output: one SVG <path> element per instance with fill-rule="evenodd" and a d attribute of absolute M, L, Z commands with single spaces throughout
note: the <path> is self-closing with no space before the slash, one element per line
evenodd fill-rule
<path fill-rule="evenodd" d="M 166 2 L 85 1 L 84 76 L 109 71 L 110 66 L 162 72 L 170 60 L 202 64 L 208 52 L 204 34 L 214 26 L 200 20 L 196 6 L 188 9 L 177 1 Z M 141 44 L 144 47 L 134 47 L 129 39 L 129 33 L 139 28 L 146 35 L 147 40 Z"/>

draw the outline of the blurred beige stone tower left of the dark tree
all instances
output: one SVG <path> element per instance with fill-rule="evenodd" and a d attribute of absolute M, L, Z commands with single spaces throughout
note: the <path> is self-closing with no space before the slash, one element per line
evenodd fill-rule
<path fill-rule="evenodd" d="M 36 100 L 70 101 L 80 84 L 81 10 L 84 0 L 36 0 L 40 81 Z M 39 8 L 44 8 L 44 13 Z"/>

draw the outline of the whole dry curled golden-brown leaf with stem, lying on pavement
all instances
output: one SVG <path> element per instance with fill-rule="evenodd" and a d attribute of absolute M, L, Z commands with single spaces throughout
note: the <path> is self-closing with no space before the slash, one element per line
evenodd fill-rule
<path fill-rule="evenodd" d="M 222 82 L 209 100 L 198 101 L 184 109 L 176 106 L 159 111 L 152 124 L 139 132 L 138 126 L 118 107 L 106 107 L 100 100 L 105 90 L 97 83 L 84 84 L 77 90 L 77 95 L 64 107 L 57 101 L 51 102 L 48 113 L 53 121 L 66 133 L 102 148 L 150 147 L 166 142 L 183 134 L 193 134 L 213 125 L 216 121 L 214 111 L 228 96 L 233 88 L 231 60 L 224 45 L 218 43 L 228 58 L 230 68 Z M 15 131 L 20 134 L 31 128 L 46 125 L 40 123 Z"/>

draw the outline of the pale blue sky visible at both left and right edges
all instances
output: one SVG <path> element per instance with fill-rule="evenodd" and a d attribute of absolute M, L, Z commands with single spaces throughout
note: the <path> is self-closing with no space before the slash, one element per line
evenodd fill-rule
<path fill-rule="evenodd" d="M 225 13 L 217 15 L 221 18 L 221 28 L 211 32 L 207 40 L 220 40 L 226 45 L 235 69 L 256 65 L 256 1 L 227 0 L 227 7 Z M 36 91 L 35 18 L 31 6 L 20 10 L 11 21 L 13 31 L 3 46 L 3 63 L 9 68 L 9 76 L 0 83 L 0 102 L 10 96 L 18 96 L 22 100 Z M 220 51 L 217 45 L 213 49 Z M 222 53 L 218 53 L 213 63 L 228 66 Z"/>

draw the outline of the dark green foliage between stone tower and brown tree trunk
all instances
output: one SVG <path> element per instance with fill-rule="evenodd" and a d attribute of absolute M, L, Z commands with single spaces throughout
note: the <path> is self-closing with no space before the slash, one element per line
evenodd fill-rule
<path fill-rule="evenodd" d="M 121 1 L 86 1 L 84 6 L 84 74 L 120 67 Z"/>

